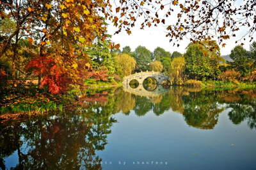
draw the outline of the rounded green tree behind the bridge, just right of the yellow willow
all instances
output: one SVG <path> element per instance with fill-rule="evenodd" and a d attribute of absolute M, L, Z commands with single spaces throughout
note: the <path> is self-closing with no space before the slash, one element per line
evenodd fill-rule
<path fill-rule="evenodd" d="M 136 60 L 138 72 L 148 70 L 148 64 L 152 61 L 150 50 L 140 45 L 132 52 L 132 57 Z"/>

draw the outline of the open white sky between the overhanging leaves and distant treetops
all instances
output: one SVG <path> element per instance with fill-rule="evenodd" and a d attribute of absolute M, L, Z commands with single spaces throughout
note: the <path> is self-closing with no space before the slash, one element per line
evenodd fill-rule
<path fill-rule="evenodd" d="M 177 15 L 172 15 L 173 17 L 169 17 L 169 20 L 167 21 L 167 24 L 170 22 L 176 22 Z M 138 20 L 136 22 L 135 27 L 131 28 L 131 35 L 128 35 L 124 29 L 122 29 L 121 33 L 118 35 L 114 35 L 115 31 L 117 30 L 117 27 L 113 26 L 113 24 L 109 24 L 108 26 L 108 33 L 112 35 L 111 40 L 115 43 L 120 44 L 120 50 L 122 50 L 123 47 L 129 46 L 131 47 L 131 50 L 134 51 L 136 47 L 139 45 L 145 46 L 148 50 L 151 52 L 154 51 L 157 47 L 161 47 L 166 51 L 173 52 L 178 51 L 182 54 L 186 52 L 186 47 L 189 44 L 189 40 L 184 38 L 180 43 L 179 47 L 177 45 L 173 46 L 173 43 L 169 42 L 170 37 L 166 37 L 166 26 L 163 26 L 163 24 L 159 24 L 157 27 L 154 27 L 153 25 L 151 27 L 145 27 L 144 29 L 140 29 L 141 20 Z M 225 47 L 221 47 L 220 45 L 220 52 L 221 55 L 227 55 L 230 54 L 230 51 L 236 46 L 239 45 L 241 42 L 237 42 L 241 38 L 241 35 L 246 32 L 246 28 L 241 28 L 237 33 L 237 37 L 231 37 L 229 40 L 225 40 L 227 45 Z M 250 49 L 250 43 L 249 38 L 247 37 L 245 41 L 243 41 L 244 49 L 249 50 Z M 256 35 L 253 36 L 253 40 L 256 41 Z"/>

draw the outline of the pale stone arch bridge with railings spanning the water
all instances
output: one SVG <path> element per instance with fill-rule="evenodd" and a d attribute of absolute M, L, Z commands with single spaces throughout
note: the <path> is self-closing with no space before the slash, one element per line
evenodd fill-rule
<path fill-rule="evenodd" d="M 123 84 L 129 84 L 131 80 L 136 80 L 139 82 L 139 84 L 143 84 L 143 81 L 148 77 L 153 77 L 154 79 L 156 79 L 157 84 L 162 84 L 164 80 L 169 81 L 169 77 L 166 75 L 163 75 L 162 73 L 147 71 L 147 72 L 134 73 L 132 75 L 125 76 Z"/>

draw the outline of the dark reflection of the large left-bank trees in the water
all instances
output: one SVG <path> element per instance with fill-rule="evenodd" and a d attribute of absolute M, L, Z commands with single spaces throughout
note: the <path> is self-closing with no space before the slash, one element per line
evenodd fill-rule
<path fill-rule="evenodd" d="M 104 150 L 116 120 L 110 105 L 99 108 L 82 105 L 72 113 L 1 126 L 1 169 L 3 158 L 16 150 L 15 169 L 102 169 L 95 150 Z"/>

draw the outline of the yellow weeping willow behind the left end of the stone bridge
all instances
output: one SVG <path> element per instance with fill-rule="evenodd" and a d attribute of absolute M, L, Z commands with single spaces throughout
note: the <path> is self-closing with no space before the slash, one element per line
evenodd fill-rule
<path fill-rule="evenodd" d="M 128 54 L 119 54 L 116 56 L 116 63 L 124 73 L 124 75 L 130 75 L 135 69 L 136 61 Z"/>

